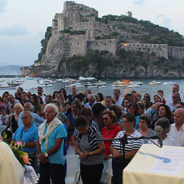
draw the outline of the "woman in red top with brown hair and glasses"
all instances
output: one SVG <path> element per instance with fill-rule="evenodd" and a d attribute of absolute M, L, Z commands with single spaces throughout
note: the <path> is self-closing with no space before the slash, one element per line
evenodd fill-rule
<path fill-rule="evenodd" d="M 119 131 L 121 131 L 120 126 L 116 123 L 117 122 L 117 116 L 114 113 L 114 111 L 105 111 L 102 115 L 104 127 L 101 131 L 102 138 L 103 139 L 113 139 L 116 137 Z M 112 144 L 112 141 L 104 141 L 105 144 L 105 152 L 104 152 L 104 169 L 103 174 L 101 178 L 101 182 L 106 183 L 107 177 L 106 174 L 111 174 L 112 172 L 112 166 L 111 166 L 111 160 L 110 159 L 110 146 Z"/>

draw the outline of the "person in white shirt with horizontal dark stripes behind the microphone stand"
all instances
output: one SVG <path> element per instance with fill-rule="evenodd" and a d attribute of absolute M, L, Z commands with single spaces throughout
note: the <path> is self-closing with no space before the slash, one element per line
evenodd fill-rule
<path fill-rule="evenodd" d="M 127 138 L 140 137 L 141 134 L 135 130 L 135 116 L 132 113 L 127 113 L 123 118 L 124 131 L 120 131 L 115 139 L 121 139 L 124 134 Z M 125 160 L 123 156 L 123 146 L 120 140 L 114 140 L 111 146 L 112 152 L 112 170 L 113 170 L 113 184 L 122 184 L 122 171 L 134 157 L 140 146 L 143 144 L 142 140 L 128 140 L 128 144 L 125 145 Z"/>

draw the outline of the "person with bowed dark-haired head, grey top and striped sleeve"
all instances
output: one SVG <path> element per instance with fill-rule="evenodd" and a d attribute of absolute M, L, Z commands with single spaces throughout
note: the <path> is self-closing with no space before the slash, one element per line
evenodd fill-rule
<path fill-rule="evenodd" d="M 104 143 L 102 136 L 84 117 L 75 120 L 75 151 L 80 155 L 80 172 L 83 184 L 99 184 L 103 170 Z M 99 140 L 99 141 L 98 141 Z"/>

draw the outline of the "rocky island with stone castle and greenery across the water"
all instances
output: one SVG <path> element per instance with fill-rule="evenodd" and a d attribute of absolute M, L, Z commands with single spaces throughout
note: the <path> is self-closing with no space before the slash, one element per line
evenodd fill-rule
<path fill-rule="evenodd" d="M 183 77 L 184 39 L 179 33 L 131 16 L 107 15 L 65 2 L 23 75 L 78 77 Z"/>

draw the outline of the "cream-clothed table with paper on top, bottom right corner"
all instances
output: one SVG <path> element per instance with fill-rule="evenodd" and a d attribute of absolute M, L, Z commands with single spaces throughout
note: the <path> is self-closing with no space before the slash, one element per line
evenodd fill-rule
<path fill-rule="evenodd" d="M 184 184 L 184 148 L 144 144 L 123 171 L 123 184 Z"/>

